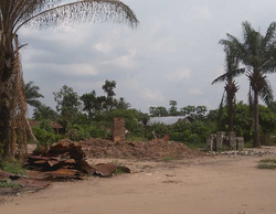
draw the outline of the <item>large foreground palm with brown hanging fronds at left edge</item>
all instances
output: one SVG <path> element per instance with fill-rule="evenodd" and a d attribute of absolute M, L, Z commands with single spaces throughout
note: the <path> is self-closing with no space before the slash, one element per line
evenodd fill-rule
<path fill-rule="evenodd" d="M 18 32 L 24 25 L 59 26 L 79 22 L 116 22 L 130 28 L 138 24 L 135 13 L 118 0 L 1 0 L 0 1 L 0 147 L 7 157 L 26 152 L 26 105 Z M 17 122 L 17 126 L 15 126 Z M 11 127 L 11 128 L 10 128 Z M 15 137 L 17 131 L 21 137 Z M 22 147 L 22 148 L 21 148 Z"/>

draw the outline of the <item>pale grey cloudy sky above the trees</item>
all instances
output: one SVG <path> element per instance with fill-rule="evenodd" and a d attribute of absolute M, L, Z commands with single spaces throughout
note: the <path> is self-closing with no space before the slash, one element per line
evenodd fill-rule
<path fill-rule="evenodd" d="M 126 25 L 86 23 L 49 30 L 23 28 L 19 34 L 25 83 L 33 81 L 55 108 L 53 92 L 63 85 L 78 95 L 103 95 L 105 79 L 116 81 L 116 97 L 148 111 L 150 106 L 219 106 L 224 84 L 211 82 L 224 72 L 221 39 L 242 38 L 250 21 L 265 33 L 276 21 L 273 0 L 124 0 L 140 21 Z M 276 74 L 269 76 L 275 86 Z M 238 100 L 246 101 L 248 83 L 237 78 Z M 274 87 L 275 89 L 275 87 Z M 275 89 L 276 90 L 276 89 Z M 276 93 L 274 93 L 276 94 Z"/>

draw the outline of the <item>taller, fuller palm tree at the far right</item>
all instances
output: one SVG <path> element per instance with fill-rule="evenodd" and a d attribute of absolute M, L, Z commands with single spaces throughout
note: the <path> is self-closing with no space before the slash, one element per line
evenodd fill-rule
<path fill-rule="evenodd" d="M 262 35 L 255 31 L 251 23 L 245 21 L 243 26 L 243 42 L 235 36 L 227 34 L 226 40 L 221 40 L 224 50 L 233 52 L 245 66 L 244 68 L 231 72 L 234 76 L 245 74 L 250 81 L 250 104 L 253 114 L 254 147 L 261 147 L 259 120 L 258 120 L 258 97 L 265 104 L 273 100 L 273 90 L 267 79 L 267 74 L 276 71 L 276 22 L 270 23 L 266 34 Z M 226 75 L 221 79 L 226 79 Z"/>

